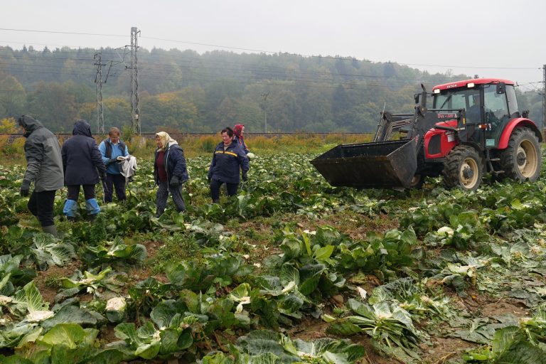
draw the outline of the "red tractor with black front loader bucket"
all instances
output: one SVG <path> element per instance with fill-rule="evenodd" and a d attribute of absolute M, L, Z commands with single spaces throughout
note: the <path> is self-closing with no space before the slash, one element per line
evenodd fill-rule
<path fill-rule="evenodd" d="M 480 78 L 415 96 L 414 114 L 381 113 L 373 142 L 339 145 L 311 161 L 332 186 L 419 187 L 425 176 L 476 190 L 484 173 L 535 181 L 542 136 L 521 111 L 514 82 Z M 393 133 L 405 136 L 391 140 Z"/>

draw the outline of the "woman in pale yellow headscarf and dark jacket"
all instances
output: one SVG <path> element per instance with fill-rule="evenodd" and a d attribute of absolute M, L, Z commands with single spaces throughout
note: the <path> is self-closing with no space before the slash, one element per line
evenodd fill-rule
<path fill-rule="evenodd" d="M 159 218 L 167 206 L 169 192 L 178 212 L 186 211 L 186 204 L 182 197 L 182 184 L 190 178 L 184 151 L 176 140 L 166 132 L 159 132 L 156 133 L 156 145 L 154 178 L 159 186 L 156 193 L 156 218 Z"/>

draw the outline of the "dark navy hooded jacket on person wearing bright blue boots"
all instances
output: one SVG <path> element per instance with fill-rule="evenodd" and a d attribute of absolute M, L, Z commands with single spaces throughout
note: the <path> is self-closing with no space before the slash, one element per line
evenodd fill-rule
<path fill-rule="evenodd" d="M 85 120 L 74 124 L 73 137 L 63 144 L 65 185 L 94 185 L 99 173 L 106 172 L 97 142 L 91 136 L 91 127 Z M 98 172 L 97 172 L 98 170 Z"/>

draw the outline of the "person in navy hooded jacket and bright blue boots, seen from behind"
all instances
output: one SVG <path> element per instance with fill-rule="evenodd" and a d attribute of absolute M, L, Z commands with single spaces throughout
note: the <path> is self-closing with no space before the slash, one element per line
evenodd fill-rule
<path fill-rule="evenodd" d="M 74 124 L 73 137 L 63 144 L 63 168 L 65 185 L 68 188 L 67 200 L 63 213 L 68 220 L 74 221 L 77 215 L 77 197 L 80 186 L 83 187 L 85 208 L 89 219 L 94 220 L 100 207 L 95 198 L 95 185 L 106 179 L 106 166 L 102 163 L 99 147 L 91 135 L 91 127 L 85 120 Z"/>

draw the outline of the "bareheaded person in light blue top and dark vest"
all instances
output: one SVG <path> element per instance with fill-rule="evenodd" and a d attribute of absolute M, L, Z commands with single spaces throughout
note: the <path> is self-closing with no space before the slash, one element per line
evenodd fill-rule
<path fill-rule="evenodd" d="M 127 199 L 125 195 L 125 177 L 119 169 L 117 157 L 128 156 L 127 145 L 119 139 L 119 129 L 110 128 L 107 139 L 100 142 L 99 150 L 106 168 L 105 202 L 112 202 L 113 189 L 116 188 L 118 201 Z"/>

